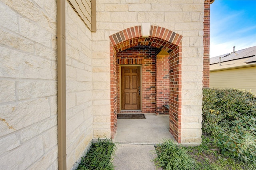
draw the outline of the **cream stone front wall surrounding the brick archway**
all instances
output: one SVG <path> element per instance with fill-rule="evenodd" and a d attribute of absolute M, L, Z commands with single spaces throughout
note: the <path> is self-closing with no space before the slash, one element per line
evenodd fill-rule
<path fill-rule="evenodd" d="M 202 105 L 202 70 L 203 70 L 203 19 L 204 0 L 125 0 L 97 1 L 97 32 L 92 34 L 92 63 L 99 67 L 93 73 L 94 83 L 104 83 L 107 88 L 97 106 L 109 112 L 109 36 L 150 22 L 183 36 L 182 38 L 182 143 L 199 144 L 201 142 L 201 105 Z M 94 76 L 95 75 L 95 76 Z M 101 75 L 101 76 L 99 76 Z M 93 96 L 97 91 L 93 91 Z M 94 109 L 93 109 L 94 110 Z M 96 109 L 97 110 L 97 109 Z M 108 132 L 108 123 L 106 130 Z M 103 126 L 102 126 L 103 127 Z M 102 129 L 103 130 L 103 129 Z M 110 132 L 109 132 L 110 133 Z"/>

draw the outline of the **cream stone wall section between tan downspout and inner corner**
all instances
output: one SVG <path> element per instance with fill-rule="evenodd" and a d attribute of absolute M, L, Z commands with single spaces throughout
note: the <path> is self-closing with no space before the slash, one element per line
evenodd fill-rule
<path fill-rule="evenodd" d="M 66 152 L 67 169 L 79 162 L 90 146 L 92 114 L 92 35 L 66 1 Z M 76 168 L 77 164 L 74 164 Z"/>

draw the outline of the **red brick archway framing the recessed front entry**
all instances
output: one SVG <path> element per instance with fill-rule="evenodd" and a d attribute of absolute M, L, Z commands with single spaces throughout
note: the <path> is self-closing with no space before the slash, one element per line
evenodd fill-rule
<path fill-rule="evenodd" d="M 152 46 L 170 54 L 170 132 L 181 142 L 181 39 L 182 36 L 158 26 L 150 26 L 147 37 L 142 36 L 141 26 L 127 28 L 110 36 L 110 103 L 111 137 L 117 128 L 117 76 L 116 54 L 135 46 Z"/>

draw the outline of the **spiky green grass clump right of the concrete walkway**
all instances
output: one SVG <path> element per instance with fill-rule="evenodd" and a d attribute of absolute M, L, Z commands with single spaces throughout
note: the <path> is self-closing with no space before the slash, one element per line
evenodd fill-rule
<path fill-rule="evenodd" d="M 156 154 L 153 161 L 157 168 L 164 170 L 194 170 L 197 169 L 195 160 L 186 153 L 186 150 L 177 146 L 172 140 L 156 145 Z"/>

